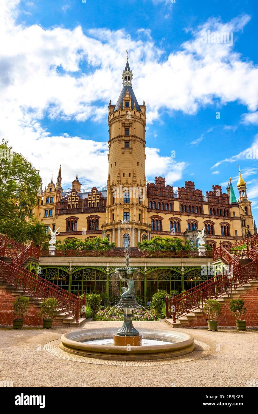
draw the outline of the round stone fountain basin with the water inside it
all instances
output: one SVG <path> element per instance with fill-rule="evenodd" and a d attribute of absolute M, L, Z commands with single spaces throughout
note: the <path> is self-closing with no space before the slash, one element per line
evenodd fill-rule
<path fill-rule="evenodd" d="M 140 329 L 141 346 L 113 345 L 116 329 L 81 329 L 67 332 L 61 337 L 60 348 L 80 356 L 120 361 L 173 358 L 194 350 L 193 337 L 174 330 Z"/>

